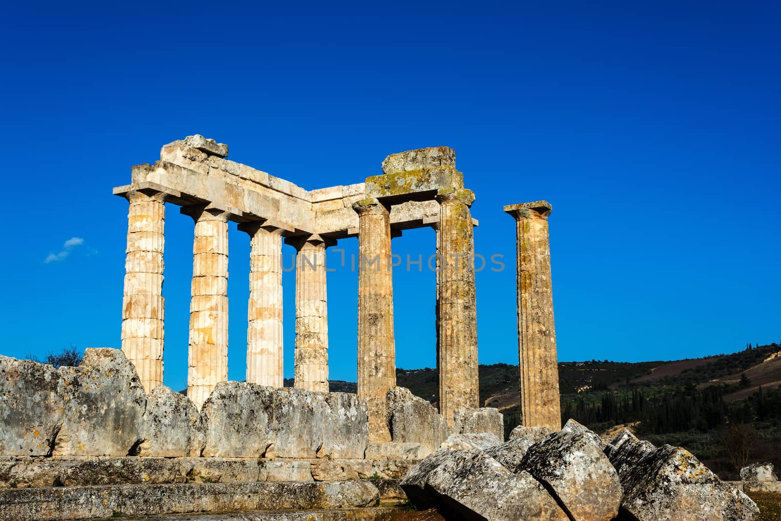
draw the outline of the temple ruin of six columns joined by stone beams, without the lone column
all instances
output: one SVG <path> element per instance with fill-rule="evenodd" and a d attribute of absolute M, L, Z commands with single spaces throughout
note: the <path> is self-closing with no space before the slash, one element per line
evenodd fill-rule
<path fill-rule="evenodd" d="M 229 161 L 227 145 L 201 136 L 162 148 L 154 165 L 134 166 L 114 194 L 130 202 L 122 348 L 144 388 L 162 383 L 165 203 L 194 220 L 187 395 L 200 407 L 227 379 L 228 221 L 250 237 L 247 381 L 282 386 L 283 241 L 298 251 L 295 387 L 328 391 L 326 248 L 358 237 L 358 395 L 373 437 L 390 440 L 384 402 L 395 386 L 391 237 L 437 230 L 437 353 L 440 412 L 478 403 L 472 191 L 451 148 L 389 155 L 366 182 L 306 191 Z M 448 259 L 456 259 L 450 262 Z M 367 266 L 368 265 L 368 266 Z M 235 309 L 235 308 L 234 308 Z"/>

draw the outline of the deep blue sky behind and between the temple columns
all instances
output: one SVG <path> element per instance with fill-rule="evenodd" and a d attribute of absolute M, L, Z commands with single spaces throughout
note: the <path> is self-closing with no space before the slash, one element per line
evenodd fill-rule
<path fill-rule="evenodd" d="M 0 352 L 119 348 L 127 202 L 111 188 L 195 133 L 308 189 L 360 182 L 393 152 L 455 148 L 476 192 L 476 249 L 508 265 L 477 277 L 482 363 L 518 360 L 502 205 L 542 198 L 554 206 L 559 359 L 779 341 L 781 12 L 683 4 L 7 5 Z M 74 237 L 83 243 L 66 248 Z M 232 224 L 231 380 L 244 379 L 248 243 Z M 169 205 L 165 362 L 177 389 L 191 244 L 191 219 Z M 393 246 L 425 258 L 433 230 Z M 434 366 L 433 273 L 397 270 L 394 283 L 397 365 Z M 292 376 L 294 273 L 284 284 Z M 355 380 L 356 287 L 356 273 L 330 273 L 334 379 Z"/>

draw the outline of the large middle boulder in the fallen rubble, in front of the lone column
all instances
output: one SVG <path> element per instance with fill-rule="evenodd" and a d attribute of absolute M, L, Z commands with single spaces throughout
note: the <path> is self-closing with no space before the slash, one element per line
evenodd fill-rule
<path fill-rule="evenodd" d="M 590 434 L 550 434 L 526 451 L 521 467 L 551 491 L 573 521 L 609 521 L 619 513 L 621 482 Z"/>

